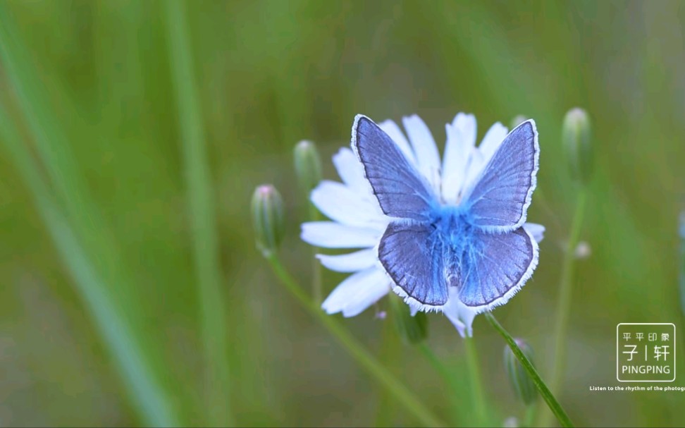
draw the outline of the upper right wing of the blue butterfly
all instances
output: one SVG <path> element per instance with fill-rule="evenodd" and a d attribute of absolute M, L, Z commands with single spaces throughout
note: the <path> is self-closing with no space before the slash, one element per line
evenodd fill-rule
<path fill-rule="evenodd" d="M 536 186 L 539 152 L 538 132 L 532 120 L 505 137 L 462 202 L 474 226 L 503 232 L 524 224 Z"/>

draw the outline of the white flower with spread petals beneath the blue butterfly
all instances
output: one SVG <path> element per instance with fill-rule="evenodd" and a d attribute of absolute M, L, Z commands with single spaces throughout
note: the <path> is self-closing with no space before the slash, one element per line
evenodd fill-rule
<path fill-rule="evenodd" d="M 458 200 L 460 192 L 479 176 L 508 133 L 505 126 L 495 123 L 476 147 L 476 118 L 459 113 L 445 126 L 447 142 L 440 164 L 438 147 L 426 123 L 414 115 L 403 118 L 402 124 L 409 140 L 393 121 L 384 121 L 378 126 L 390 135 L 416 170 L 426 176 L 443 201 Z M 328 269 L 352 274 L 328 295 L 321 307 L 328 314 L 342 312 L 345 317 L 354 317 L 393 289 L 392 279 L 378 260 L 378 243 L 390 217 L 381 210 L 352 149 L 340 149 L 333 156 L 333 164 L 342 183 L 322 181 L 311 192 L 311 202 L 332 221 L 302 224 L 302 240 L 324 248 L 362 248 L 344 255 L 316 256 Z M 542 240 L 543 226 L 526 223 L 524 228 L 538 242 Z M 412 314 L 419 310 L 419 307 L 410 307 Z M 471 336 L 471 324 L 477 312 L 459 300 L 455 287 L 450 289 L 448 302 L 438 309 L 459 334 Z"/>

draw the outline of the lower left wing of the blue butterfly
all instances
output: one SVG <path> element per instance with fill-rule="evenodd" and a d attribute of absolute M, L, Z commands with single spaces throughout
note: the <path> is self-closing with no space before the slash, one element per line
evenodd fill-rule
<path fill-rule="evenodd" d="M 395 284 L 423 305 L 448 300 L 446 248 L 430 224 L 390 223 L 378 246 L 378 259 Z"/>

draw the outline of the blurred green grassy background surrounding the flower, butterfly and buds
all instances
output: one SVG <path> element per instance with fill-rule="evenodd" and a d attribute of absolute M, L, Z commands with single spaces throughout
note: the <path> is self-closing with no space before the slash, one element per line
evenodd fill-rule
<path fill-rule="evenodd" d="M 529 221 L 547 232 L 533 279 L 495 314 L 548 379 L 576 197 L 561 124 L 581 106 L 591 257 L 576 264 L 559 398 L 580 426 L 682 426 L 682 392 L 589 386 L 617 384 L 617 323 L 682 326 L 684 20 L 681 1 L 3 2 L 0 425 L 416 424 L 285 292 L 249 227 L 254 187 L 275 183 L 281 255 L 309 283 L 292 147 L 316 141 L 338 179 L 331 155 L 357 113 L 419 114 L 440 149 L 457 111 L 479 139 L 535 118 Z M 326 291 L 342 278 L 326 271 Z M 448 320 L 429 316 L 428 344 L 463 379 L 462 406 L 374 314 L 336 317 L 436 415 L 469 424 Z M 483 317 L 474 336 L 493 415 L 520 417 L 503 342 Z"/>

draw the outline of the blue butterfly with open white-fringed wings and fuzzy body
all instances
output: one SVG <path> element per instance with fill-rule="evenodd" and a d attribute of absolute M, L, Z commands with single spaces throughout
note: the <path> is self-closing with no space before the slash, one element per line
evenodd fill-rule
<path fill-rule="evenodd" d="M 514 128 L 458 200 L 444 201 L 393 140 L 366 116 L 352 126 L 352 149 L 383 212 L 392 221 L 378 259 L 395 291 L 423 310 L 457 292 L 476 312 L 505 303 L 531 277 L 538 244 L 526 231 L 536 187 L 538 133 Z"/>

